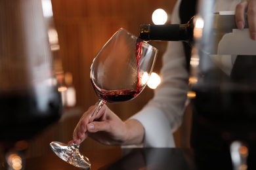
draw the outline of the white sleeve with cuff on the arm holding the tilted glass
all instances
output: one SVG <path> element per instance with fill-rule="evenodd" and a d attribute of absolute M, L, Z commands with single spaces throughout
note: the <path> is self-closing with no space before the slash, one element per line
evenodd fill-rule
<path fill-rule="evenodd" d="M 173 23 L 179 23 L 179 4 L 173 10 Z M 186 92 L 188 90 L 188 71 L 182 42 L 168 42 L 163 55 L 161 84 L 154 97 L 131 118 L 139 120 L 144 126 L 145 147 L 174 147 L 173 131 L 182 122 Z"/>

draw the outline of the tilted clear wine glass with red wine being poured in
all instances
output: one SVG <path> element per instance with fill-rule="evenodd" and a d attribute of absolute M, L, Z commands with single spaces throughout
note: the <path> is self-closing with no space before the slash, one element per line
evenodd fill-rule
<path fill-rule="evenodd" d="M 129 101 L 145 88 L 158 50 L 120 28 L 93 59 L 91 83 L 99 97 L 93 116 L 104 103 Z M 92 116 L 92 117 L 93 117 Z M 79 146 L 52 142 L 53 152 L 62 160 L 87 169 L 91 163 L 79 153 Z"/>

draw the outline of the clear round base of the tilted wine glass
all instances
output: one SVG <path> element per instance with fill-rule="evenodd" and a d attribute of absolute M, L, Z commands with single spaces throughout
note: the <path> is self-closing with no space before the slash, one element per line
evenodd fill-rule
<path fill-rule="evenodd" d="M 68 146 L 67 144 L 54 141 L 50 143 L 50 146 L 60 159 L 75 167 L 90 169 L 91 163 L 89 159 L 79 153 L 79 146 L 77 144 Z"/>

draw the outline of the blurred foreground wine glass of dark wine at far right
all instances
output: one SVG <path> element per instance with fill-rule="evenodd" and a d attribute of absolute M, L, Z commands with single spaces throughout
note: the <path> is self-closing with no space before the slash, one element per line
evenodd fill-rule
<path fill-rule="evenodd" d="M 200 1 L 195 20 L 193 111 L 203 126 L 230 145 L 234 169 L 247 169 L 245 160 L 256 135 L 256 44 L 248 29 L 236 27 L 234 12 L 215 12 L 214 3 Z"/>

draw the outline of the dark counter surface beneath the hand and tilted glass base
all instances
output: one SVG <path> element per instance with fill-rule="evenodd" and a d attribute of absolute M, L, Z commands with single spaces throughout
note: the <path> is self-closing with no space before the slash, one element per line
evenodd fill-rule
<path fill-rule="evenodd" d="M 91 169 L 232 169 L 228 150 L 190 148 L 111 148 L 81 150 L 91 161 Z M 256 161 L 249 161 L 249 169 Z M 251 166 L 251 168 L 250 168 Z M 26 169 L 79 169 L 60 160 L 54 153 L 28 158 Z"/>

